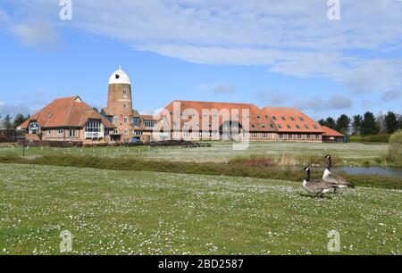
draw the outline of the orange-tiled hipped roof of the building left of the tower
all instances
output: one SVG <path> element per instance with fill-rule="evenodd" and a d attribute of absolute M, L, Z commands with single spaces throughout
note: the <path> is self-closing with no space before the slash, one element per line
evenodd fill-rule
<path fill-rule="evenodd" d="M 21 128 L 28 128 L 33 120 L 36 120 L 41 128 L 83 128 L 88 120 L 101 120 L 105 128 L 115 128 L 104 116 L 82 102 L 78 95 L 55 99 L 23 122 Z"/>

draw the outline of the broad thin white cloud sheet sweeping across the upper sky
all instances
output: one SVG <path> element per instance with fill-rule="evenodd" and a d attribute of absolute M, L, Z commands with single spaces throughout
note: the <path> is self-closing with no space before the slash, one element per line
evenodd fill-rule
<path fill-rule="evenodd" d="M 53 17 L 60 9 L 53 0 L 17 2 Z M 387 55 L 402 47 L 402 4 L 342 0 L 341 21 L 329 21 L 328 8 L 326 0 L 80 0 L 64 25 L 188 62 L 264 65 L 355 92 L 402 87 L 401 61 Z M 24 30 L 20 36 L 35 44 Z"/>

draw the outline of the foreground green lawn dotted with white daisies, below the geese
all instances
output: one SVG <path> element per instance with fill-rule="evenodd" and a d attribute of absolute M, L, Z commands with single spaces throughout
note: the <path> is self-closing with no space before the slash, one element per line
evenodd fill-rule
<path fill-rule="evenodd" d="M 344 254 L 402 252 L 402 192 L 314 198 L 301 183 L 0 164 L 0 253 Z"/>

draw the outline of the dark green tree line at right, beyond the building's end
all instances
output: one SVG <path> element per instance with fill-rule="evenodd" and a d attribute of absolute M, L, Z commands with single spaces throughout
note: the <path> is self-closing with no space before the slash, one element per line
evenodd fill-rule
<path fill-rule="evenodd" d="M 322 126 L 333 128 L 345 135 L 369 136 L 393 134 L 402 128 L 402 115 L 395 112 L 381 113 L 377 117 L 373 112 L 348 117 L 342 114 L 337 120 L 328 117 L 318 121 Z"/>

